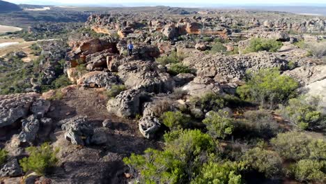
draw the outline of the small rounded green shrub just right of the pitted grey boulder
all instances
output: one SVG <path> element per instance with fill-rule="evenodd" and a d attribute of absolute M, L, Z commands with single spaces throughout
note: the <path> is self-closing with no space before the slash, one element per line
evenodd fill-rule
<path fill-rule="evenodd" d="M 164 112 L 160 119 L 169 128 L 186 128 L 190 120 L 182 112 Z"/>

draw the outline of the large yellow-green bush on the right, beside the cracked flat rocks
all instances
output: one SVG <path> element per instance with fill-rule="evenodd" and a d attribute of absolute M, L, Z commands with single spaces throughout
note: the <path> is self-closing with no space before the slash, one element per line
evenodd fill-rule
<path fill-rule="evenodd" d="M 237 93 L 243 100 L 260 103 L 263 107 L 274 108 L 297 94 L 297 82 L 291 77 L 280 75 L 276 68 L 249 73 L 248 77 L 247 83 L 238 87 Z"/>

